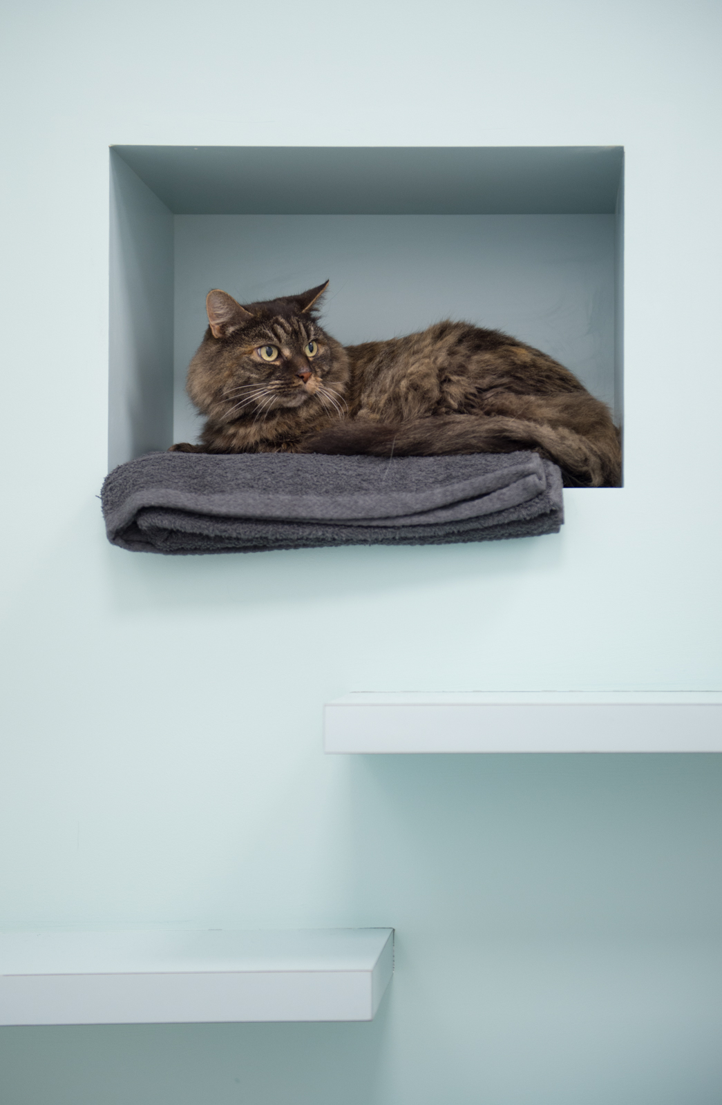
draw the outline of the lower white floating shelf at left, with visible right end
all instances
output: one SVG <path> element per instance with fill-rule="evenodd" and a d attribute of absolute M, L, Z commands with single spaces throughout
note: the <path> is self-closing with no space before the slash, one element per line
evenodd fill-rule
<path fill-rule="evenodd" d="M 393 928 L 0 934 L 0 1024 L 369 1021 Z"/>

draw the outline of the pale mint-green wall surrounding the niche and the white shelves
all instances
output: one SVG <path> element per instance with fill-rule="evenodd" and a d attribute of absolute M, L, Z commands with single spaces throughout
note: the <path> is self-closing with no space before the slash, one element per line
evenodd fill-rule
<path fill-rule="evenodd" d="M 3 1105 L 716 1105 L 715 757 L 343 757 L 352 690 L 720 690 L 720 8 L 3 14 L 1 923 L 394 925 L 372 1024 L 10 1029 Z M 112 143 L 624 144 L 626 486 L 499 545 L 107 545 Z M 325 275 L 325 274 L 324 274 Z"/>

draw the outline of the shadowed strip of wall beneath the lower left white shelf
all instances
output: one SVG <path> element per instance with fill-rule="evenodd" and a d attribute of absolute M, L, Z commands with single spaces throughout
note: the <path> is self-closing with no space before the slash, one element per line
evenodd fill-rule
<path fill-rule="evenodd" d="M 365 1023 L 4 1029 L 2 1099 L 6 1105 L 370 1105 L 383 1077 L 388 1007 L 387 990 L 376 1018 Z"/>

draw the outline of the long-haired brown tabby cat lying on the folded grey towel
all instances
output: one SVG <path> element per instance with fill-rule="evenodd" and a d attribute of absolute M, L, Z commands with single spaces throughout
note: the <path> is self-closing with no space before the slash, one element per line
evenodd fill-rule
<path fill-rule="evenodd" d="M 209 327 L 188 369 L 207 417 L 181 452 L 429 456 L 534 450 L 567 486 L 616 487 L 608 408 L 546 354 L 470 323 L 342 346 L 314 309 L 328 282 L 241 306 L 208 293 Z"/>

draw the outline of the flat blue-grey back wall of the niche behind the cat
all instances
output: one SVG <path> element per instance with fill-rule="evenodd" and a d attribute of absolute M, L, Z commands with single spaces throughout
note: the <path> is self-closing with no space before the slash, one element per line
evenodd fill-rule
<path fill-rule="evenodd" d="M 463 318 L 514 334 L 615 408 L 611 214 L 175 215 L 174 438 L 202 419 L 186 369 L 208 326 L 206 293 L 241 303 L 315 287 L 345 345 Z"/>

